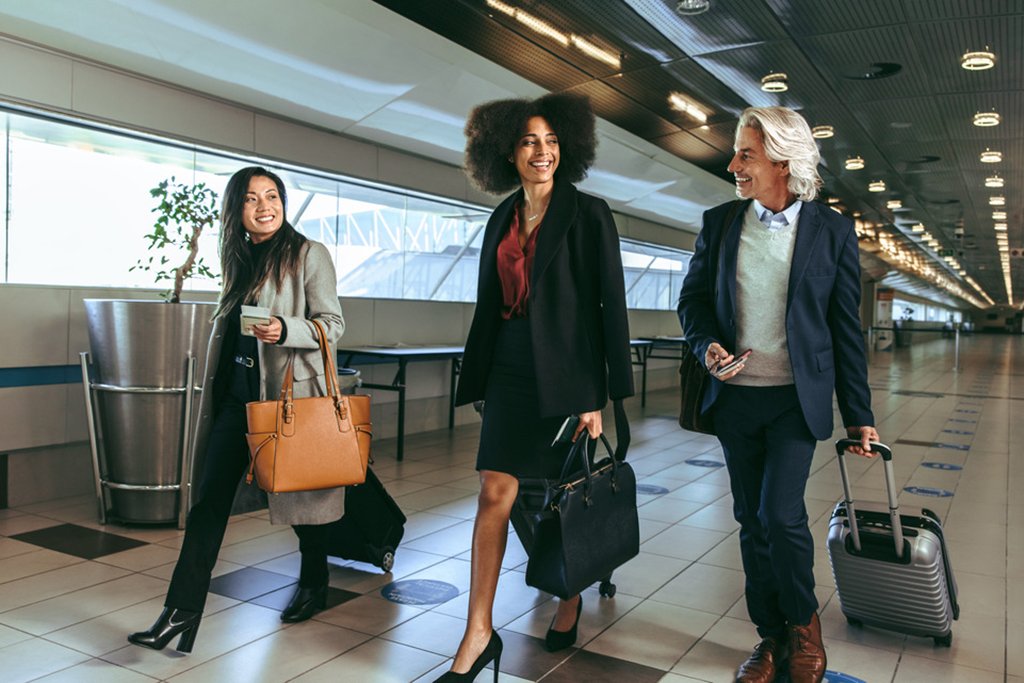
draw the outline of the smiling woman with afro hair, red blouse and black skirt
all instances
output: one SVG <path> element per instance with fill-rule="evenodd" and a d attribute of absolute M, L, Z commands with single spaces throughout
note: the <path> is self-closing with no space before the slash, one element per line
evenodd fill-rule
<path fill-rule="evenodd" d="M 441 681 L 471 681 L 502 642 L 492 626 L 498 575 L 519 478 L 557 478 L 567 446 L 552 446 L 570 415 L 601 433 L 608 398 L 633 395 L 618 233 L 608 205 L 573 185 L 596 146 L 590 101 L 571 94 L 486 102 L 466 125 L 466 169 L 484 191 L 515 190 L 483 236 L 476 311 L 458 404 L 483 400 L 476 468 L 466 633 Z M 563 600 L 545 645 L 575 642 L 581 596 Z"/>

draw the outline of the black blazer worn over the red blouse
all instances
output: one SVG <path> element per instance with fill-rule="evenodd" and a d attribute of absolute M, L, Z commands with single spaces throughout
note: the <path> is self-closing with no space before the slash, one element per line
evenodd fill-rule
<path fill-rule="evenodd" d="M 476 310 L 456 391 L 459 405 L 481 400 L 486 389 L 502 324 L 498 244 L 521 201 L 519 189 L 502 202 L 483 233 Z M 537 229 L 526 314 L 541 416 L 596 411 L 609 396 L 632 396 L 626 288 L 611 210 L 604 200 L 556 180 Z"/>

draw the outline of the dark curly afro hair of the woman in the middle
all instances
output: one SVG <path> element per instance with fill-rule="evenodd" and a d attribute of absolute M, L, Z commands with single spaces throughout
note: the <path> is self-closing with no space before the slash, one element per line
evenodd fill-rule
<path fill-rule="evenodd" d="M 497 99 L 473 109 L 466 122 L 466 171 L 477 187 L 502 195 L 519 185 L 519 173 L 509 163 L 509 155 L 526 121 L 535 116 L 543 117 L 558 136 L 555 177 L 567 182 L 587 177 L 597 148 L 590 98 L 551 93 L 532 100 Z"/>

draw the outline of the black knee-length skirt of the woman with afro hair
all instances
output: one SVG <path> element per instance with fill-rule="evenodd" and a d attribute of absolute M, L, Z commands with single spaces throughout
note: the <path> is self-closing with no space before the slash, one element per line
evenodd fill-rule
<path fill-rule="evenodd" d="M 566 417 L 541 417 L 529 318 L 503 322 L 487 375 L 476 469 L 557 478 L 568 446 L 552 447 L 551 441 Z"/>

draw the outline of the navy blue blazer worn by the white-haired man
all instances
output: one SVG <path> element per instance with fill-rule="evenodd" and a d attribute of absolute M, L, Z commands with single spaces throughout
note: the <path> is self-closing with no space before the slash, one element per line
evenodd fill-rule
<path fill-rule="evenodd" d="M 750 202 L 742 202 L 735 212 L 723 243 L 723 223 L 734 204 L 705 212 L 679 295 L 677 312 L 683 336 L 700 362 L 712 342 L 736 352 L 736 254 Z M 853 221 L 822 204 L 804 202 L 800 210 L 785 333 L 800 407 L 814 437 L 831 436 L 834 391 L 845 426 L 873 426 L 860 331 L 857 236 Z M 721 389 L 722 382 L 713 379 L 705 394 L 706 412 L 715 404 Z"/>

